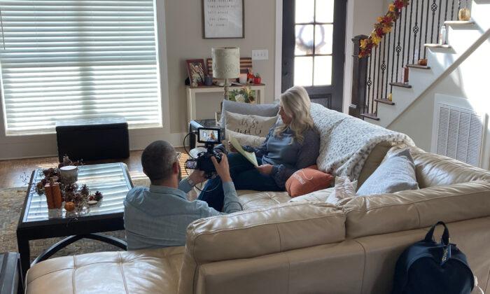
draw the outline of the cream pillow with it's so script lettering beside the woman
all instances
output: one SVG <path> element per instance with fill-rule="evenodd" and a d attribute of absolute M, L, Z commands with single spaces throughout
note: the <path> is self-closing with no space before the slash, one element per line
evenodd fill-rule
<path fill-rule="evenodd" d="M 267 137 L 269 130 L 276 124 L 277 117 L 244 115 L 225 111 L 225 129 L 240 134 Z"/>

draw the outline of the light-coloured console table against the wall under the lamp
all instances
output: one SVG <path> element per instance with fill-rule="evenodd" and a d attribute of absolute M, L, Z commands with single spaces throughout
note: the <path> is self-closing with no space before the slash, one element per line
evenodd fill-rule
<path fill-rule="evenodd" d="M 264 103 L 265 99 L 265 85 L 264 84 L 251 84 L 249 85 L 251 90 L 257 91 L 257 104 Z M 243 87 L 243 85 L 232 85 L 230 86 L 230 90 L 236 90 Z M 225 92 L 224 87 L 220 87 L 217 85 L 211 86 L 199 86 L 199 87 L 190 87 L 187 86 L 187 113 L 188 113 L 188 121 L 195 120 L 196 117 L 196 94 L 197 93 L 220 93 L 223 94 Z"/>

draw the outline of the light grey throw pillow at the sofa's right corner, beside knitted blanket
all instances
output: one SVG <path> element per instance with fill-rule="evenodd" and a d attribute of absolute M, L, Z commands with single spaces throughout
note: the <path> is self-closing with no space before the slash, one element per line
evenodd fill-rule
<path fill-rule="evenodd" d="M 395 193 L 403 190 L 416 190 L 415 165 L 408 148 L 402 149 L 386 158 L 367 178 L 357 191 L 357 195 Z"/>

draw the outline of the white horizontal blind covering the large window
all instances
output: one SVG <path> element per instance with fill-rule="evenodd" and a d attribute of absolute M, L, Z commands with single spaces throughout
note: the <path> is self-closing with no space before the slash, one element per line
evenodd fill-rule
<path fill-rule="evenodd" d="M 0 1 L 6 134 L 123 116 L 160 127 L 153 0 Z"/>

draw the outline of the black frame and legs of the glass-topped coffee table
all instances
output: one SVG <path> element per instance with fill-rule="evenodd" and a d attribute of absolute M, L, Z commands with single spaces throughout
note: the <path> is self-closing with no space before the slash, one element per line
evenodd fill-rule
<path fill-rule="evenodd" d="M 31 174 L 31 180 L 29 181 L 27 195 L 24 200 L 24 205 L 22 206 L 22 212 L 17 227 L 17 243 L 23 276 L 25 276 L 27 270 L 31 267 L 31 250 L 29 247 L 29 241 L 31 240 L 69 236 L 41 253 L 41 255 L 32 262 L 32 265 L 36 262 L 41 262 L 50 258 L 50 256 L 57 251 L 83 238 L 103 241 L 118 246 L 123 250 L 127 250 L 127 243 L 125 241 L 116 237 L 97 234 L 100 232 L 124 230 L 123 212 L 117 214 L 79 216 L 73 218 L 51 218 L 46 221 L 24 222 L 24 215 L 27 209 L 27 200 L 30 195 L 31 186 L 33 184 L 36 185 L 36 183 L 32 183 L 35 179 L 35 172 L 36 171 L 34 170 Z M 127 181 L 131 183 L 131 186 L 133 186 L 127 168 L 123 174 Z"/>

